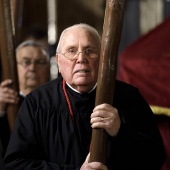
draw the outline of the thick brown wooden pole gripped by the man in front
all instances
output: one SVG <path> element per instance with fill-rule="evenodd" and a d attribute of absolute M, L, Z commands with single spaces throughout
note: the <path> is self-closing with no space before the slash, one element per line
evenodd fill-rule
<path fill-rule="evenodd" d="M 125 0 L 106 0 L 95 105 L 113 104 L 116 63 L 121 38 Z M 93 129 L 90 162 L 105 164 L 108 135 L 104 129 Z"/>

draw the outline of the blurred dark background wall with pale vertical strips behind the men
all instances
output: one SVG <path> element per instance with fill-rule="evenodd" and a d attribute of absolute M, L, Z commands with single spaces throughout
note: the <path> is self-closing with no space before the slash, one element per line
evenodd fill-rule
<path fill-rule="evenodd" d="M 53 56 L 63 29 L 76 23 L 87 23 L 102 34 L 105 0 L 12 1 L 18 1 L 19 4 L 16 8 L 20 13 L 16 21 L 20 29 L 19 41 L 30 36 L 46 38 L 52 57 L 52 78 L 57 76 Z M 119 54 L 140 36 L 162 23 L 168 16 L 170 16 L 170 0 L 126 0 Z"/>

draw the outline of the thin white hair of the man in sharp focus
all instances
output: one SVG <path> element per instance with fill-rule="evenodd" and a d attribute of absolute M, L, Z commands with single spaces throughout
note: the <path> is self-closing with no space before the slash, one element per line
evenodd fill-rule
<path fill-rule="evenodd" d="M 65 32 L 72 29 L 72 28 L 83 28 L 83 29 L 88 30 L 89 32 L 91 32 L 96 37 L 96 39 L 98 40 L 99 45 L 101 44 L 101 37 L 100 37 L 98 31 L 94 27 L 92 27 L 92 26 L 90 26 L 88 24 L 80 23 L 80 24 L 72 25 L 72 26 L 70 26 L 70 27 L 63 30 L 63 32 L 60 35 L 60 39 L 59 39 L 59 42 L 58 42 L 56 53 L 59 52 L 60 44 L 61 44 L 61 41 L 63 39 L 63 36 L 64 36 Z"/>

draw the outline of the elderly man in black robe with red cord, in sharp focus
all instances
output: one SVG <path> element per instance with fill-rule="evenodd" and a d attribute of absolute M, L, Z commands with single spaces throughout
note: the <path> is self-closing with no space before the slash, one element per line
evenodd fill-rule
<path fill-rule="evenodd" d="M 94 106 L 99 51 L 93 27 L 63 31 L 56 55 L 62 76 L 26 96 L 6 152 L 7 170 L 161 168 L 162 139 L 137 88 L 116 81 L 113 106 Z M 92 128 L 109 135 L 106 165 L 89 163 Z"/>

